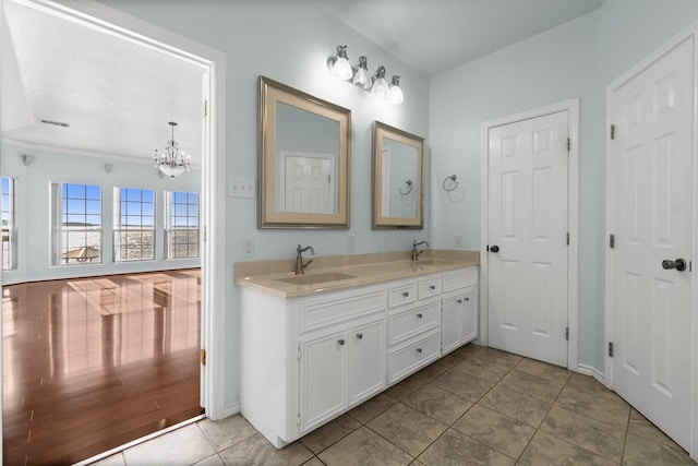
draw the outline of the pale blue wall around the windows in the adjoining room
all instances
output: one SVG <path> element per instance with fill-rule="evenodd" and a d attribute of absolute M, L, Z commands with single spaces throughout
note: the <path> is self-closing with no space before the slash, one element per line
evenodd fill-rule
<path fill-rule="evenodd" d="M 149 164 L 104 159 L 85 155 L 67 154 L 46 148 L 2 144 L 0 172 L 3 177 L 15 178 L 16 222 L 17 222 L 17 270 L 3 272 L 3 285 L 57 279 L 77 276 L 124 274 L 143 271 L 197 267 L 198 259 L 165 260 L 163 237 L 156 236 L 156 259 L 154 261 L 112 263 L 111 230 L 113 225 L 113 188 L 144 188 L 155 190 L 156 234 L 163 231 L 165 222 L 164 191 L 201 192 L 201 171 L 192 169 L 173 180 L 160 179 Z M 28 167 L 22 155 L 35 157 Z M 111 172 L 105 170 L 105 163 L 112 164 Z M 49 184 L 70 182 L 98 184 L 101 187 L 103 263 L 73 266 L 51 266 L 49 246 Z"/>

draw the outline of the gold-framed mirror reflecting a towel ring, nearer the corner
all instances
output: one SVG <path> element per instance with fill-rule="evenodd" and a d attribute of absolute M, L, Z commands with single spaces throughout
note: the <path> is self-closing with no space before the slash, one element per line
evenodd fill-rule
<path fill-rule="evenodd" d="M 373 228 L 423 227 L 422 138 L 373 123 Z"/>

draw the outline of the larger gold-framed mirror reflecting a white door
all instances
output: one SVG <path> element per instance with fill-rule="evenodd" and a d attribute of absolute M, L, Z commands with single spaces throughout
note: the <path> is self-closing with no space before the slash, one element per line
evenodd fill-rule
<path fill-rule="evenodd" d="M 351 111 L 260 77 L 260 227 L 348 228 Z"/>

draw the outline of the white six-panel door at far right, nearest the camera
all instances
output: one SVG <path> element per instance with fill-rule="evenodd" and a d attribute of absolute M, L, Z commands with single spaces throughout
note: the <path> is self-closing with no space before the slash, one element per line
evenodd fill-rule
<path fill-rule="evenodd" d="M 693 63 L 687 39 L 610 93 L 612 384 L 690 450 Z M 610 244 L 609 244 L 610 246 Z M 665 270 L 683 258 L 686 270 Z M 675 263 L 664 263 L 673 266 Z M 695 370 L 695 369 L 694 369 Z"/>

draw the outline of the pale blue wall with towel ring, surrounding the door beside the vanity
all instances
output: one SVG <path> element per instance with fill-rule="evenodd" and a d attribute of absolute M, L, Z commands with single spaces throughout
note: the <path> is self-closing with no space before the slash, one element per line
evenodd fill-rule
<path fill-rule="evenodd" d="M 597 11 L 431 80 L 431 230 L 437 248 L 462 234 L 480 247 L 481 124 L 580 98 L 579 354 L 604 370 L 605 87 L 698 16 L 688 0 L 606 0 Z M 441 189 L 458 175 L 465 198 Z"/>

